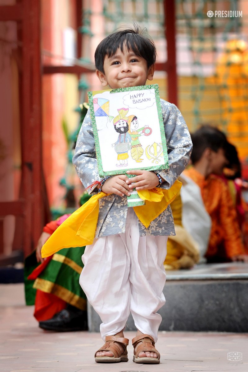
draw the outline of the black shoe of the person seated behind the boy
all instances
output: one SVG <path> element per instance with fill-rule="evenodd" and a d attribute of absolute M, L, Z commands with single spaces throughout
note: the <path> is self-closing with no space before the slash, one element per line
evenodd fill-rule
<path fill-rule="evenodd" d="M 39 327 L 45 330 L 68 332 L 87 331 L 87 312 L 76 309 L 72 306 L 57 312 L 53 318 L 39 322 Z"/>

